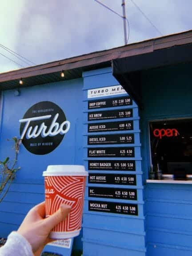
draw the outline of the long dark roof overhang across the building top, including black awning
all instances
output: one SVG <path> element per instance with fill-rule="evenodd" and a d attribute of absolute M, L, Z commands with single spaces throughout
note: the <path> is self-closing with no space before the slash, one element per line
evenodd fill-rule
<path fill-rule="evenodd" d="M 192 30 L 33 67 L 4 72 L 0 73 L 0 91 L 37 84 L 52 83 L 54 85 L 53 82 L 81 78 L 82 72 L 84 71 L 111 67 L 112 62 L 114 76 L 128 93 L 132 94 L 133 98 L 140 102 L 140 98 L 138 97 L 140 95 L 140 85 L 138 85 L 140 71 L 155 68 L 158 65 L 170 65 L 170 60 L 178 61 L 177 58 L 180 58 L 183 53 L 175 53 L 172 51 L 172 48 L 176 49 L 178 47 L 178 49 L 183 49 L 183 47 L 186 47 L 184 56 L 190 59 L 192 52 L 190 50 L 191 48 L 188 48 L 188 45 L 190 46 L 191 44 Z M 158 52 L 163 52 L 164 57 L 161 56 L 161 53 L 158 54 Z M 166 52 L 168 53 L 166 54 Z M 174 55 L 176 55 L 175 59 L 173 58 Z M 62 70 L 65 72 L 64 78 L 60 76 Z M 19 84 L 20 78 L 24 81 L 23 85 Z M 128 88 L 128 84 L 130 84 L 130 88 L 132 86 L 132 90 Z"/>

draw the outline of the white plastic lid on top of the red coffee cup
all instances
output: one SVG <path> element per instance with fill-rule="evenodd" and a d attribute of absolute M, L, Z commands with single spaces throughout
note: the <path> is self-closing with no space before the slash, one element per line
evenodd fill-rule
<path fill-rule="evenodd" d="M 43 176 L 88 176 L 84 165 L 48 165 Z"/>

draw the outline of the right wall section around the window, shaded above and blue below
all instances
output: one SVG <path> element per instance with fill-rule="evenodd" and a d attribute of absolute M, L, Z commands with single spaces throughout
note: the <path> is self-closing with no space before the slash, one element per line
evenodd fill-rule
<path fill-rule="evenodd" d="M 191 64 L 159 68 L 142 75 L 143 172 L 148 178 L 150 120 L 192 116 Z M 192 254 L 192 184 L 146 184 L 148 256 Z"/>

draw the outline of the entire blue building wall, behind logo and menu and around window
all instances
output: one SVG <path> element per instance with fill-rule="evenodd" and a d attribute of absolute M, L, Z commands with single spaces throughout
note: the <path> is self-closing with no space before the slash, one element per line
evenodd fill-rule
<path fill-rule="evenodd" d="M 192 116 L 191 68 L 191 64 L 185 64 L 143 72 L 144 109 L 140 112 L 142 168 L 140 159 L 136 161 L 139 216 L 88 211 L 87 184 L 83 222 L 84 256 L 191 255 L 191 185 L 145 184 L 143 187 L 142 183 L 142 179 L 145 183 L 148 178 L 150 166 L 148 122 Z M 116 84 L 118 82 L 112 76 L 111 68 L 104 68 L 85 72 L 83 79 L 23 88 L 20 96 L 15 96 L 14 90 L 3 92 L 0 160 L 13 156 L 12 144 L 7 139 L 19 137 L 19 119 L 37 102 L 48 100 L 60 106 L 71 128 L 61 144 L 47 155 L 33 155 L 21 146 L 18 157 L 21 170 L 0 204 L 0 236 L 7 236 L 17 229 L 28 210 L 44 200 L 42 172 L 48 164 L 85 164 L 88 168 L 87 90 Z M 134 120 L 137 133 L 140 132 L 138 122 L 138 118 Z M 82 248 L 81 237 L 75 240 L 75 247 Z"/>

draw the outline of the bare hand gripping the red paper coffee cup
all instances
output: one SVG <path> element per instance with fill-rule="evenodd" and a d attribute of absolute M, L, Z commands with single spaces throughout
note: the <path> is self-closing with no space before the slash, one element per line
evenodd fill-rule
<path fill-rule="evenodd" d="M 28 212 L 17 232 L 28 240 L 33 253 L 38 256 L 45 244 L 53 241 L 49 238 L 52 228 L 64 220 L 70 211 L 71 207 L 63 204 L 52 216 L 45 218 L 45 202 L 37 204 Z"/>

